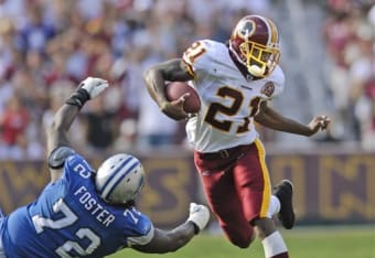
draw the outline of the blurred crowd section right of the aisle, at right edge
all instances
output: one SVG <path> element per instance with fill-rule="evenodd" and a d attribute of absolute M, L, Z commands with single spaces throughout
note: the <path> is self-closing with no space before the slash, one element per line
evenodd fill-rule
<path fill-rule="evenodd" d="M 328 3 L 324 71 L 336 111 L 335 137 L 375 150 L 375 3 Z"/>

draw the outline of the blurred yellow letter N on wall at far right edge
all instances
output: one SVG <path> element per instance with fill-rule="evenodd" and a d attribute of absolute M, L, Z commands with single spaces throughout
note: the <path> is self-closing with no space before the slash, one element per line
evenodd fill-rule
<path fill-rule="evenodd" d="M 319 205 L 321 216 L 329 219 L 350 218 L 357 214 L 375 218 L 375 159 L 368 155 L 324 157 L 319 169 Z M 343 190 L 336 180 L 362 184 Z M 364 193 L 363 196 L 356 192 Z"/>

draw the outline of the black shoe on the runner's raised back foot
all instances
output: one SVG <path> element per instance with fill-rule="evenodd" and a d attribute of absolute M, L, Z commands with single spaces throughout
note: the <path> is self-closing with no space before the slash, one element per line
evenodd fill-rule
<path fill-rule="evenodd" d="M 276 195 L 280 201 L 280 212 L 277 215 L 278 218 L 286 229 L 291 229 L 296 222 L 292 204 L 292 183 L 289 180 L 281 180 L 281 182 L 274 187 L 274 195 Z"/>

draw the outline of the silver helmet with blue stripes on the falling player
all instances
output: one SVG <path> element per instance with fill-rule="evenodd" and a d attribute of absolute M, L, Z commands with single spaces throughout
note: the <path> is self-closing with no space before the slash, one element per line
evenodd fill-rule
<path fill-rule="evenodd" d="M 143 166 L 132 155 L 115 154 L 99 166 L 95 185 L 107 203 L 125 204 L 133 201 L 144 185 Z"/>

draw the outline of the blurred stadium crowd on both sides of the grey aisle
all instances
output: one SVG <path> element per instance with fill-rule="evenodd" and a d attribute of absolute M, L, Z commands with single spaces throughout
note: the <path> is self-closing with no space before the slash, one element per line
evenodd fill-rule
<path fill-rule="evenodd" d="M 338 110 L 335 136 L 375 141 L 374 8 L 334 0 L 322 33 Z M 0 0 L 0 160 L 44 159 L 45 127 L 86 76 L 111 87 L 72 128 L 88 155 L 184 144 L 184 125 L 162 115 L 146 67 L 193 41 L 225 42 L 245 14 L 272 17 L 271 0 Z M 275 10 L 274 10 L 275 11 Z M 371 139 L 371 140 L 368 140 Z M 375 142 L 372 143 L 375 146 Z"/>

